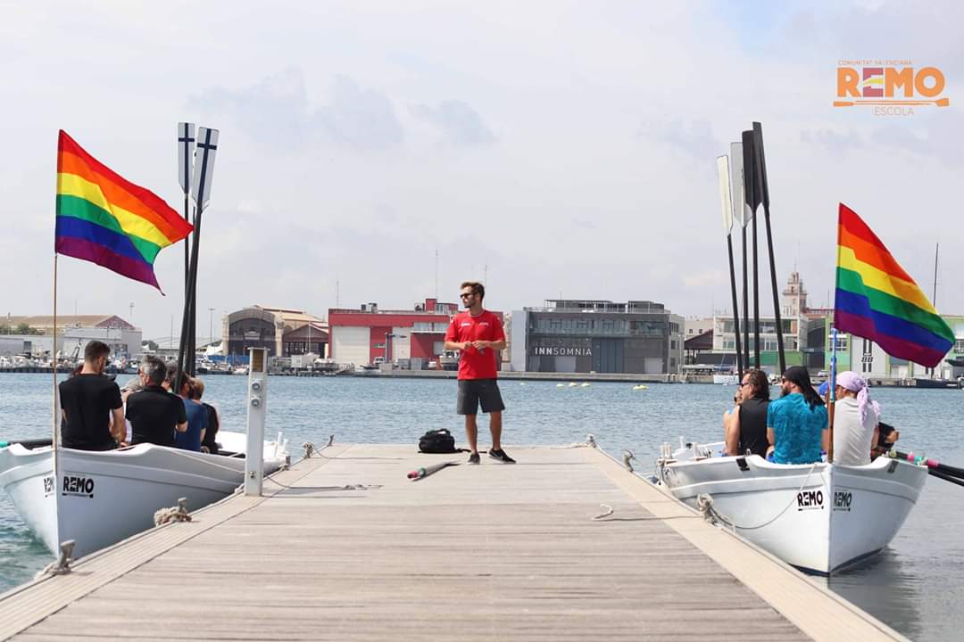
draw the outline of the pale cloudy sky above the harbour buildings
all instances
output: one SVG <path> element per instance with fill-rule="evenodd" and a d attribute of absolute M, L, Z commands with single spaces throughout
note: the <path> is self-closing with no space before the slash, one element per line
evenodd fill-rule
<path fill-rule="evenodd" d="M 781 284 L 795 266 L 826 304 L 844 201 L 928 295 L 939 242 L 937 306 L 964 314 L 964 5 L 459 4 L 0 0 L 0 313 L 50 312 L 57 131 L 179 209 L 190 120 L 221 131 L 200 337 L 208 308 L 215 333 L 254 303 L 410 308 L 437 251 L 444 300 L 487 276 L 493 309 L 709 315 L 729 307 L 715 157 L 759 120 Z M 873 58 L 939 67 L 951 106 L 832 107 L 838 61 Z M 162 251 L 162 296 L 64 257 L 59 305 L 167 337 L 182 263 Z"/>

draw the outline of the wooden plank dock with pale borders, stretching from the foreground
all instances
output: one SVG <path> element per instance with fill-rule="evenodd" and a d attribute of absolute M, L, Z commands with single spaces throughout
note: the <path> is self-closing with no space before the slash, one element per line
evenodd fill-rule
<path fill-rule="evenodd" d="M 597 450 L 510 451 L 326 449 L 0 596 L 0 638 L 902 639 Z"/>

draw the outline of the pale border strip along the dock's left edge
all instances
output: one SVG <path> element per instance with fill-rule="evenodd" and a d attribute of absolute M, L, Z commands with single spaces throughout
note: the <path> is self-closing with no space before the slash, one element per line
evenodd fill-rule
<path fill-rule="evenodd" d="M 325 449 L 325 455 L 335 457 L 349 448 L 351 445 L 334 446 Z M 229 495 L 222 501 L 192 512 L 192 522 L 181 522 L 176 527 L 172 527 L 174 524 L 160 526 L 132 535 L 114 546 L 77 560 L 70 565 L 71 572 L 67 575 L 34 579 L 0 594 L 0 640 L 29 629 L 158 555 L 281 493 L 284 487 L 273 483 L 272 479 L 290 486 L 326 461 L 302 459 L 286 471 L 265 477 L 261 497 L 247 497 L 242 493 Z"/>

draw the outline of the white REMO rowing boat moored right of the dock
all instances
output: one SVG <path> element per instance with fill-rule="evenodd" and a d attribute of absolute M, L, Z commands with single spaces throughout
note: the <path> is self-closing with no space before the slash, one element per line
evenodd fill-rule
<path fill-rule="evenodd" d="M 828 575 L 886 547 L 921 495 L 926 466 L 878 457 L 866 466 L 712 457 L 688 445 L 656 460 L 658 485 L 811 573 Z"/>

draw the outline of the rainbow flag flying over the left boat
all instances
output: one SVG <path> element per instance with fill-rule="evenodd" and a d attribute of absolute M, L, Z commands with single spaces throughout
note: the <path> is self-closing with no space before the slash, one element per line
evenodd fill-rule
<path fill-rule="evenodd" d="M 194 229 L 156 194 L 103 166 L 61 130 L 54 250 L 161 289 L 154 258 Z M 163 294 L 163 292 L 162 292 Z"/>

